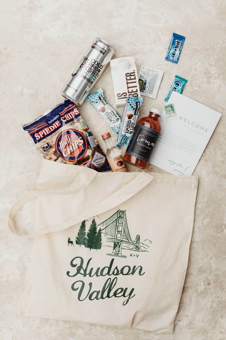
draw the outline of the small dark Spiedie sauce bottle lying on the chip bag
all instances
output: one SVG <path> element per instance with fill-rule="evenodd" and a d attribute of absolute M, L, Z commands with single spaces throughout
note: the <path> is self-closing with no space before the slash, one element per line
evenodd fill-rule
<path fill-rule="evenodd" d="M 101 148 L 96 145 L 95 139 L 91 131 L 86 132 L 90 148 L 92 149 L 89 165 L 94 170 L 103 170 L 109 166 L 107 157 Z M 110 170 L 110 169 L 109 169 Z"/>

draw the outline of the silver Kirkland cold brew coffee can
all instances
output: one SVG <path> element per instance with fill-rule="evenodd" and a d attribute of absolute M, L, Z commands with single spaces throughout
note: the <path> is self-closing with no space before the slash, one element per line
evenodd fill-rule
<path fill-rule="evenodd" d="M 81 105 L 115 53 L 107 41 L 96 38 L 71 74 L 62 96 Z"/>

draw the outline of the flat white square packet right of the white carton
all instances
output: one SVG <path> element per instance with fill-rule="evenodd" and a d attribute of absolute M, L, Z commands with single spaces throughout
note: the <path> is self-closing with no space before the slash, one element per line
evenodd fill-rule
<path fill-rule="evenodd" d="M 139 87 L 141 94 L 156 99 L 162 80 L 163 71 L 157 68 L 141 65 L 139 72 Z"/>

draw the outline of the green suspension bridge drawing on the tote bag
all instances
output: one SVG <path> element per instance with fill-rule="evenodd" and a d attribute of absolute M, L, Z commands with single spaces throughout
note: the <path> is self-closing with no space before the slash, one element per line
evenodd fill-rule
<path fill-rule="evenodd" d="M 126 220 L 126 210 L 117 210 L 115 214 L 108 217 L 105 221 L 98 224 L 101 228 L 101 232 L 107 239 L 107 242 L 112 242 L 113 251 L 110 256 L 126 257 L 122 255 L 122 246 L 124 244 L 130 244 L 135 251 L 142 251 L 140 244 L 140 235 L 137 235 L 135 240 L 131 239 L 128 224 Z"/>

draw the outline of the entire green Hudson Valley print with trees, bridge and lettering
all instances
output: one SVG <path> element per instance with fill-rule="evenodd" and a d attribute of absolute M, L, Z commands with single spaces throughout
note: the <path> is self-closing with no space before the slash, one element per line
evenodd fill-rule
<path fill-rule="evenodd" d="M 95 218 L 91 221 L 87 232 L 87 220 L 82 221 L 75 236 L 76 246 L 81 247 L 82 245 L 87 248 L 88 254 L 91 251 L 92 257 L 89 258 L 89 256 L 85 255 L 85 258 L 75 256 L 71 259 L 70 270 L 66 272 L 70 278 L 76 278 L 71 284 L 71 290 L 77 292 L 77 299 L 81 302 L 84 300 L 111 299 L 113 297 L 121 298 L 121 303 L 125 306 L 136 296 L 136 293 L 133 279 L 125 281 L 120 280 L 120 277 L 135 275 L 139 279 L 139 277 L 145 274 L 139 253 L 148 252 L 152 242 L 149 239 L 141 242 L 140 235 L 138 234 L 133 235 L 133 238 L 131 237 L 126 219 L 126 210 L 118 209 L 99 224 L 97 224 L 96 220 L 100 219 L 100 217 L 96 216 Z M 74 246 L 70 237 L 68 237 L 69 244 Z M 98 260 L 97 262 L 94 250 L 100 250 L 103 247 L 110 247 L 112 249 L 111 251 L 106 251 L 106 255 L 112 256 L 112 258 L 107 256 L 106 258 L 109 261 L 106 261 L 105 258 L 105 260 Z M 72 253 L 75 251 L 76 249 L 71 249 Z M 130 253 L 129 258 L 125 255 L 128 253 Z M 139 262 L 137 263 L 137 261 Z M 103 280 L 99 280 L 99 283 L 96 280 L 94 283 L 92 280 L 93 277 L 104 276 L 107 276 L 105 283 L 103 283 Z M 127 287 L 120 281 L 123 281 Z M 140 283 L 138 287 L 140 287 Z M 140 288 L 137 290 L 139 293 Z"/>

